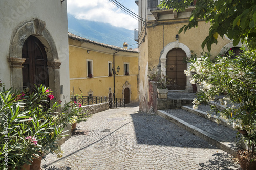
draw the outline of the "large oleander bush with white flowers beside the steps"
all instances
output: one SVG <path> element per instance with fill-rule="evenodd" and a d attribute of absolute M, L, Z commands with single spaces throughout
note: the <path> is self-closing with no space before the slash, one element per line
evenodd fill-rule
<path fill-rule="evenodd" d="M 242 50 L 243 53 L 235 57 L 229 51 L 228 56 L 218 55 L 214 60 L 209 55 L 191 59 L 185 72 L 191 74 L 195 71 L 190 82 L 198 82 L 201 86 L 197 99 L 193 101 L 193 108 L 212 101 L 223 105 L 224 110 L 212 105 L 212 110 L 218 116 L 216 122 L 224 119 L 243 134 L 248 147 L 237 153 L 240 165 L 242 169 L 256 169 L 256 50 L 245 47 Z"/>

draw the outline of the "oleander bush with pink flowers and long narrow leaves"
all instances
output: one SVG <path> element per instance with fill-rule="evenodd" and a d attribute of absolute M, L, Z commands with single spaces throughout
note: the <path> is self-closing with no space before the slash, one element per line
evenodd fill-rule
<path fill-rule="evenodd" d="M 48 88 L 41 85 L 35 91 L 0 90 L 0 143 L 4 146 L 0 152 L 6 156 L 0 158 L 0 164 L 4 168 L 20 169 L 32 165 L 42 153 L 60 151 L 56 141 L 65 136 L 70 103 L 60 108 L 58 102 L 52 102 L 54 96 Z"/>

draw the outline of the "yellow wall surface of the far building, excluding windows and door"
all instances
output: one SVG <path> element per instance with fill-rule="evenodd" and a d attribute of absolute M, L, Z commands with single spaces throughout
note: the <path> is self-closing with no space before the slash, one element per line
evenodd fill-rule
<path fill-rule="evenodd" d="M 69 38 L 71 94 L 74 88 L 74 94 L 81 94 L 82 91 L 83 96 L 88 96 L 89 91 L 93 92 L 93 96 L 108 96 L 110 92 L 113 95 L 114 77 L 108 76 L 108 62 L 112 62 L 113 67 L 115 52 L 117 50 Z M 119 51 L 115 54 L 115 70 L 117 66 L 120 67 L 119 74 L 115 76 L 115 96 L 123 98 L 123 85 L 128 81 L 131 87 L 131 103 L 138 101 L 138 56 L 138 52 L 130 51 Z M 93 60 L 93 78 L 87 77 L 87 59 Z M 124 75 L 124 63 L 129 63 L 129 76 Z"/>

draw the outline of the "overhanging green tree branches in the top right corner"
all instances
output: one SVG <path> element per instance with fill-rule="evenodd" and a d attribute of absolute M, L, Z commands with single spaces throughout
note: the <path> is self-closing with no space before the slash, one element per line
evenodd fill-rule
<path fill-rule="evenodd" d="M 162 0 L 159 7 L 173 8 L 179 12 L 191 6 L 193 0 L 176 1 Z M 198 26 L 198 21 L 210 22 L 209 35 L 202 43 L 202 48 L 207 46 L 211 50 L 212 44 L 218 43 L 218 36 L 222 38 L 227 35 L 233 39 L 236 46 L 239 41 L 248 42 L 249 47 L 256 48 L 256 0 L 198 0 L 196 8 L 190 15 L 189 23 L 180 30 L 186 32 L 188 29 Z"/>

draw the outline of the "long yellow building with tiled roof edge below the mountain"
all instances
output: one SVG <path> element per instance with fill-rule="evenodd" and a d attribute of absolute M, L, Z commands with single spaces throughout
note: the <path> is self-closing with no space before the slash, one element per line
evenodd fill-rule
<path fill-rule="evenodd" d="M 125 103 L 137 102 L 138 59 L 138 51 L 98 43 L 69 33 L 71 95 L 115 96 L 124 98 Z"/>

